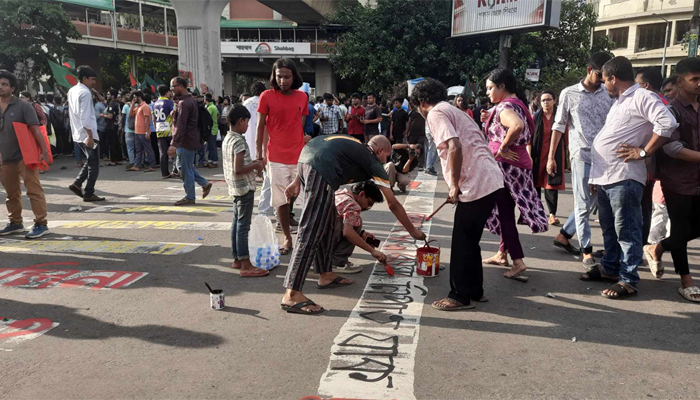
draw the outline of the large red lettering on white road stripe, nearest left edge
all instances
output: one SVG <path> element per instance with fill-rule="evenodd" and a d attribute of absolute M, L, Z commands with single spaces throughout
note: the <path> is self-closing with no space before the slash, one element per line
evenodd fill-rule
<path fill-rule="evenodd" d="M 0 286 L 31 289 L 51 287 L 82 287 L 91 289 L 118 289 L 131 285 L 147 272 L 89 271 L 78 269 L 44 269 L 41 267 L 76 266 L 79 262 L 52 262 L 30 265 L 26 268 L 0 268 Z"/>

